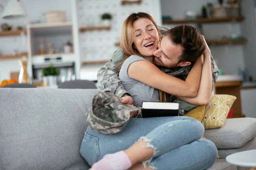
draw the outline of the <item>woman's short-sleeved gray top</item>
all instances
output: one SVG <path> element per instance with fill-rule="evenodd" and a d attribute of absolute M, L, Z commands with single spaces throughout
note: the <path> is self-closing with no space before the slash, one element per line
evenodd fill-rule
<path fill-rule="evenodd" d="M 160 102 L 160 99 L 159 91 L 157 89 L 152 88 L 143 82 L 139 82 L 128 76 L 127 71 L 129 65 L 135 61 L 140 60 L 148 61 L 147 59 L 137 55 L 132 55 L 126 59 L 120 69 L 119 79 L 121 80 L 122 85 L 125 87 L 125 90 L 127 90 L 132 95 L 134 105 L 142 107 L 142 102 Z"/>

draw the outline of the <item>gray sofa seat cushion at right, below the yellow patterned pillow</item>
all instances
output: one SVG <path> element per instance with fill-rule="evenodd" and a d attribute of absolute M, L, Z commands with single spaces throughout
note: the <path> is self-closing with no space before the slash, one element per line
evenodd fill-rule
<path fill-rule="evenodd" d="M 239 148 L 255 136 L 256 118 L 227 119 L 222 127 L 204 132 L 204 137 L 214 142 L 218 149 Z"/>

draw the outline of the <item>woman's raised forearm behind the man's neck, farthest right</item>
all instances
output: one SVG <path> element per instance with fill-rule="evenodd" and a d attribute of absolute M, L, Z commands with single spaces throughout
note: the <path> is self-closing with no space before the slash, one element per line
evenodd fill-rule
<path fill-rule="evenodd" d="M 205 42 L 206 44 L 206 42 Z M 206 50 L 204 51 L 204 64 L 202 69 L 202 77 L 198 94 L 196 97 L 187 98 L 177 96 L 178 99 L 189 102 L 193 105 L 208 105 L 212 94 L 212 66 L 211 66 L 211 51 L 206 44 Z"/>

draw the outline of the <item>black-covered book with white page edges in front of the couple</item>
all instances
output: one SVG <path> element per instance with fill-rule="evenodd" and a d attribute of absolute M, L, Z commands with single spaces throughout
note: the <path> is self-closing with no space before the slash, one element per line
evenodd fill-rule
<path fill-rule="evenodd" d="M 142 117 L 178 116 L 179 104 L 172 102 L 142 102 Z"/>

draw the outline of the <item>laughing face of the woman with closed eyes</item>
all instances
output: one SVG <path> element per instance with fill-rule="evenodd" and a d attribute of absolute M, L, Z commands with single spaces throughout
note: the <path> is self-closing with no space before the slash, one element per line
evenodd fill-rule
<path fill-rule="evenodd" d="M 133 23 L 133 27 L 135 48 L 143 57 L 153 57 L 153 53 L 157 50 L 157 43 L 159 42 L 157 28 L 147 18 L 136 20 Z"/>

